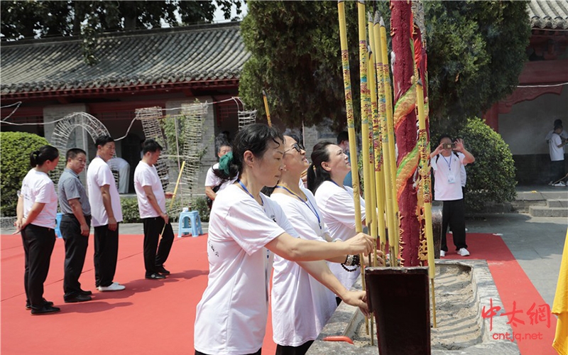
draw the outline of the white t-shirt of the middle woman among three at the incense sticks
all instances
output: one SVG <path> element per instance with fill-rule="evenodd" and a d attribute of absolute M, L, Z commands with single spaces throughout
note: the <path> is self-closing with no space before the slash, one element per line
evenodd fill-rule
<path fill-rule="evenodd" d="M 307 202 L 280 193 L 273 193 L 271 199 L 280 204 L 300 238 L 327 243 L 324 237 L 327 227 L 317 222 L 317 216 L 321 220 L 321 212 L 315 197 L 310 190 L 300 188 Z M 337 308 L 332 291 L 300 265 L 280 256 L 274 256 L 271 299 L 273 340 L 283 346 L 299 346 L 315 340 Z"/>

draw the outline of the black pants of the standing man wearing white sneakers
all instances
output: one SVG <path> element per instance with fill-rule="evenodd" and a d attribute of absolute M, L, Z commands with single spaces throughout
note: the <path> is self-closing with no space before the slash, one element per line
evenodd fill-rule
<path fill-rule="evenodd" d="M 116 225 L 116 231 L 109 230 L 108 224 L 94 227 L 94 285 L 97 287 L 112 285 L 119 257 L 119 226 Z"/>

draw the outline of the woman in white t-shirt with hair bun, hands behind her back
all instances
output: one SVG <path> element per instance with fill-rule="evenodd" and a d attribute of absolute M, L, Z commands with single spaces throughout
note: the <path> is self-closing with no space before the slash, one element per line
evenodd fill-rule
<path fill-rule="evenodd" d="M 22 181 L 21 194 L 16 207 L 14 225 L 20 233 L 26 268 L 23 274 L 26 290 L 26 309 L 32 315 L 59 312 L 53 302 L 43 298 L 43 283 L 48 277 L 49 263 L 55 246 L 55 217 L 58 213 L 58 196 L 48 172 L 59 162 L 59 151 L 43 146 L 30 154 L 32 169 Z"/>

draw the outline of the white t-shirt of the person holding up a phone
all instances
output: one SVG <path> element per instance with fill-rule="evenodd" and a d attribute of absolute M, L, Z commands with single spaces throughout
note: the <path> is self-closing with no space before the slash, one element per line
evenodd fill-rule
<path fill-rule="evenodd" d="M 439 154 L 431 159 L 434 169 L 434 197 L 436 201 L 455 201 L 464 198 L 461 190 L 461 167 L 466 157 L 453 152 L 449 157 Z M 436 161 L 437 160 L 437 161 Z"/>

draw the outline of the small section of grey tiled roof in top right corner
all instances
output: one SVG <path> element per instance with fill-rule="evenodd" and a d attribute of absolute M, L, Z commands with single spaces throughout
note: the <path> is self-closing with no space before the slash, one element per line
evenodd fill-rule
<path fill-rule="evenodd" d="M 528 8 L 532 28 L 568 28 L 568 0 L 531 0 Z"/>

